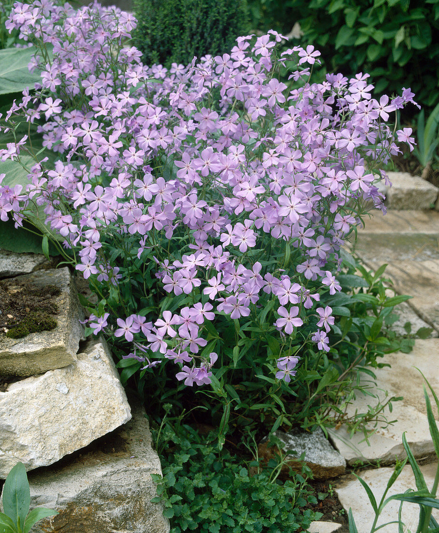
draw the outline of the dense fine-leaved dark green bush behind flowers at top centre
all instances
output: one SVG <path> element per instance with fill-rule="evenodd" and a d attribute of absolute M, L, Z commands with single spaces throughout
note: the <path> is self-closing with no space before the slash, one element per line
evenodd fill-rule
<path fill-rule="evenodd" d="M 247 0 L 135 0 L 134 44 L 145 64 L 188 64 L 230 51 L 248 33 Z"/>

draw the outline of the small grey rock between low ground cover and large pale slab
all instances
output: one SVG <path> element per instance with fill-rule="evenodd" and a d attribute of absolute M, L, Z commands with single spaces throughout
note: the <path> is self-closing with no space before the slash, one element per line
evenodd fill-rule
<path fill-rule="evenodd" d="M 276 431 L 274 433 L 284 446 L 284 452 L 295 451 L 295 455 L 289 455 L 288 464 L 282 467 L 282 477 L 288 476 L 289 467 L 292 470 L 300 469 L 300 456 L 305 453 L 305 462 L 314 474 L 314 479 L 334 478 L 344 474 L 346 470 L 345 459 L 330 445 L 323 431 L 318 429 L 312 433 L 295 430 L 291 433 Z M 268 446 L 263 442 L 258 447 L 259 456 L 269 460 L 276 455 L 276 447 Z M 295 457 L 297 459 L 295 459 Z"/>

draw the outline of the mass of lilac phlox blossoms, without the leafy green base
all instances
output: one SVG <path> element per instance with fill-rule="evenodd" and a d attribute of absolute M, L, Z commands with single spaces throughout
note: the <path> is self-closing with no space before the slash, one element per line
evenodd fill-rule
<path fill-rule="evenodd" d="M 20 225 L 43 206 L 76 270 L 119 295 L 113 309 L 127 309 L 118 291 L 135 265 L 155 262 L 177 305 L 90 317 L 94 334 L 131 346 L 126 357 L 142 368 L 172 360 L 177 379 L 208 384 L 218 357 L 211 326 L 225 317 L 242 332 L 269 321 L 281 345 L 275 376 L 289 382 L 299 332 L 329 350 L 334 317 L 315 306 L 340 290 L 340 247 L 364 206 L 385 210 L 377 169 L 399 151 L 386 120 L 414 95 L 377 101 L 367 74 L 310 84 L 319 52 L 279 54 L 275 31 L 188 66 L 146 66 L 125 45 L 135 25 L 97 3 L 15 4 L 8 27 L 36 44 L 30 67 L 42 74 L 5 118 L 38 125 L 58 160 L 36 161 L 25 188 L 0 185 L 0 218 Z M 288 84 L 278 79 L 285 68 Z M 397 136 L 410 143 L 409 132 Z M 26 137 L 0 150 L 3 161 L 23 154 L 34 155 Z"/>

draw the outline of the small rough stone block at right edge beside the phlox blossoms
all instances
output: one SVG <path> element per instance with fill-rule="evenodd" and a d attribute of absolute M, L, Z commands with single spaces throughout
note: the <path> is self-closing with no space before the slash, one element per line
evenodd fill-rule
<path fill-rule="evenodd" d="M 407 172 L 388 172 L 392 187 L 385 192 L 387 207 L 392 209 L 430 209 L 436 203 L 439 189 Z"/>

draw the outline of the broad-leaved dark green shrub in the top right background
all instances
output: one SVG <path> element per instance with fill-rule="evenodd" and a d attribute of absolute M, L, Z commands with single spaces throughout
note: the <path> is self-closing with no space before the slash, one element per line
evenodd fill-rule
<path fill-rule="evenodd" d="M 248 0 L 253 26 L 304 33 L 328 72 L 368 72 L 376 93 L 411 87 L 422 107 L 439 102 L 439 0 Z M 414 111 L 414 109 L 413 109 Z"/>

